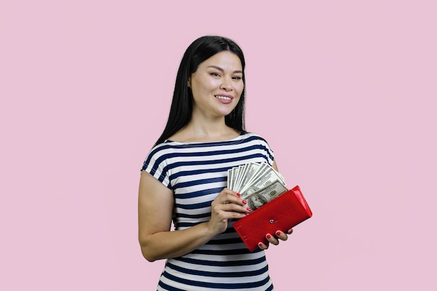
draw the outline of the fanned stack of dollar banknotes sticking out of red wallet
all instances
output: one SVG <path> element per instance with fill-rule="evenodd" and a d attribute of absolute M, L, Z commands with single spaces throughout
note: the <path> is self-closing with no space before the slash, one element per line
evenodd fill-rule
<path fill-rule="evenodd" d="M 228 188 L 240 193 L 252 210 L 288 191 L 286 181 L 267 163 L 247 163 L 228 170 Z"/>

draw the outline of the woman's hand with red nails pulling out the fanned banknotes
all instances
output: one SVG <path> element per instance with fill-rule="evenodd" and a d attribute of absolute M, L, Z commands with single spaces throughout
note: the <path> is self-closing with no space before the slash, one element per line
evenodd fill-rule
<path fill-rule="evenodd" d="M 228 221 L 243 218 L 251 211 L 247 207 L 247 201 L 240 196 L 239 193 L 224 188 L 211 203 L 211 219 L 208 227 L 214 234 L 225 232 L 228 228 Z"/>

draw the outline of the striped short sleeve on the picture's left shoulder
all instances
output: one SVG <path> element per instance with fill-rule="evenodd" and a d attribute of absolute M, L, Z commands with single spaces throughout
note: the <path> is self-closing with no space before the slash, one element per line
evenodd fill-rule
<path fill-rule="evenodd" d="M 151 149 L 145 162 L 142 164 L 141 170 L 148 172 L 165 187 L 171 189 L 166 151 L 165 147 L 160 147 L 159 145 Z"/>

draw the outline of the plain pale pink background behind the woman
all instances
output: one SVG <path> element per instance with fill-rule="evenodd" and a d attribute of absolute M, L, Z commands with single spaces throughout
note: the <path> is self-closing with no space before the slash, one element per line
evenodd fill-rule
<path fill-rule="evenodd" d="M 435 1 L 1 1 L 0 290 L 154 290 L 142 161 L 205 34 L 313 218 L 276 290 L 437 290 Z"/>

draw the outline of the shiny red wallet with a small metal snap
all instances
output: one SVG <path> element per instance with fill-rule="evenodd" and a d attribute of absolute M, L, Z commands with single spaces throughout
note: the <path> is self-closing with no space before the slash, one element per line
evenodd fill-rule
<path fill-rule="evenodd" d="M 243 239 L 249 251 L 258 248 L 259 242 L 268 243 L 265 235 L 274 235 L 278 230 L 287 232 L 290 228 L 313 216 L 311 209 L 300 191 L 295 186 L 251 214 L 235 221 L 234 228 Z"/>

